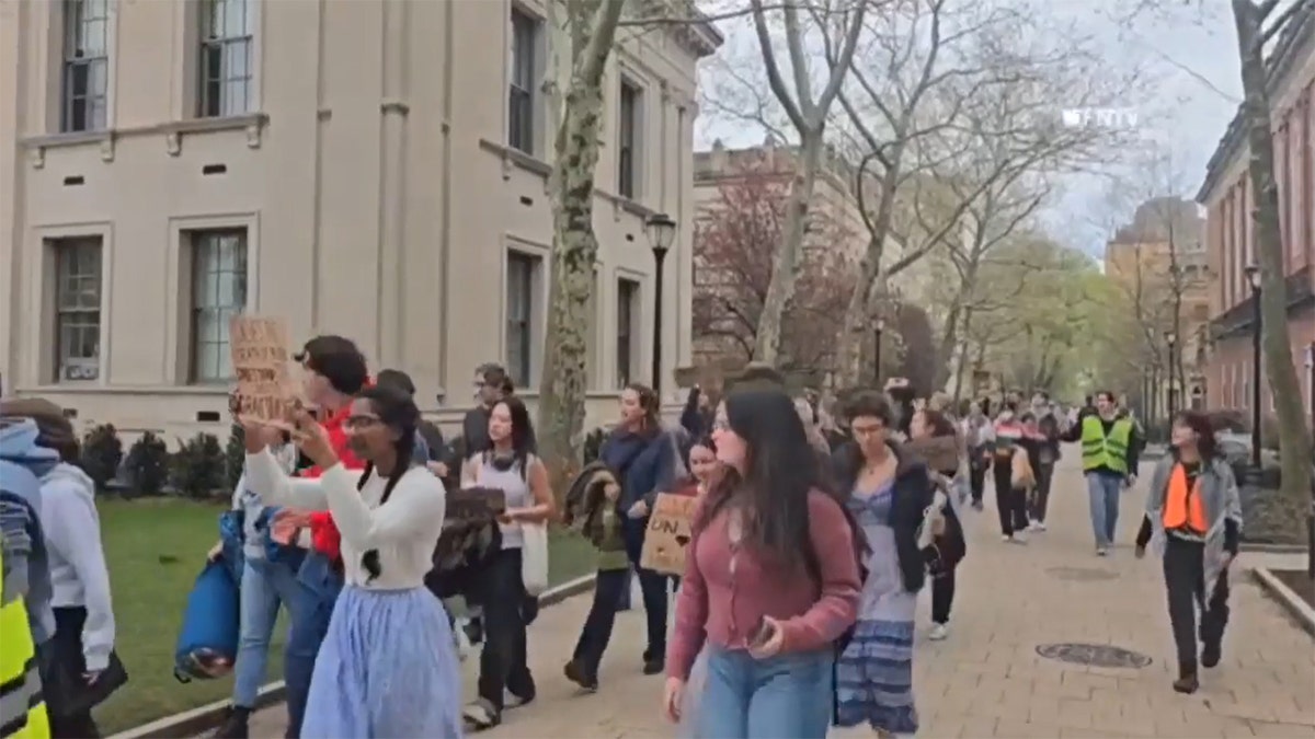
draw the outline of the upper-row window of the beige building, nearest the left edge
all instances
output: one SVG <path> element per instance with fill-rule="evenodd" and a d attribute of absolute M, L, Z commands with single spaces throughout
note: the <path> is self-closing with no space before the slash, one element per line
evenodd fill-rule
<path fill-rule="evenodd" d="M 60 130 L 103 130 L 108 89 L 109 0 L 64 0 Z"/>

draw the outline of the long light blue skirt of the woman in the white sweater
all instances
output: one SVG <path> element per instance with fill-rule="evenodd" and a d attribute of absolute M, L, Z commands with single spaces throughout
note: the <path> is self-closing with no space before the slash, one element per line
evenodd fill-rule
<path fill-rule="evenodd" d="M 462 736 L 452 629 L 433 593 L 342 589 L 316 657 L 301 736 Z"/>

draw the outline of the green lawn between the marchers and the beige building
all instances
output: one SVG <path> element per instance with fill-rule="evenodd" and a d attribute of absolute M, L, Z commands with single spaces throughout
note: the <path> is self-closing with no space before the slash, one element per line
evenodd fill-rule
<path fill-rule="evenodd" d="M 217 505 L 178 498 L 99 501 L 105 556 L 114 590 L 116 648 L 129 681 L 96 709 L 108 735 L 156 718 L 224 700 L 233 679 L 174 679 L 174 642 L 192 581 L 205 552 L 218 538 Z M 564 583 L 593 572 L 593 550 L 584 539 L 555 531 L 550 542 L 550 580 Z M 275 627 L 267 680 L 283 679 L 285 622 Z"/>

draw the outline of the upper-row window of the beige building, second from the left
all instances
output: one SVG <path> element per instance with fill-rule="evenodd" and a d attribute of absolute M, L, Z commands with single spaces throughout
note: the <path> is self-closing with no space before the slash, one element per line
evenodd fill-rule
<path fill-rule="evenodd" d="M 252 21 L 250 0 L 203 0 L 197 114 L 241 116 L 251 110 Z"/>

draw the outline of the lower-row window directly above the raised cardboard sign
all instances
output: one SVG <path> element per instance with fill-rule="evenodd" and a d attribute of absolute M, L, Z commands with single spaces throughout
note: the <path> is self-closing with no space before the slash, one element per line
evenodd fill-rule
<path fill-rule="evenodd" d="M 192 231 L 192 380 L 233 379 L 229 320 L 246 308 L 246 229 Z"/>

